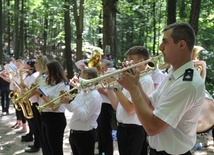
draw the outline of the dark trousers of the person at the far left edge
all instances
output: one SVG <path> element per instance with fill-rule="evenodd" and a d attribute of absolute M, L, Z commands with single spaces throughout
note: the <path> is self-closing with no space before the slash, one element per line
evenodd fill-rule
<path fill-rule="evenodd" d="M 1 106 L 2 112 L 9 113 L 10 99 L 9 99 L 10 89 L 9 86 L 1 86 Z"/>

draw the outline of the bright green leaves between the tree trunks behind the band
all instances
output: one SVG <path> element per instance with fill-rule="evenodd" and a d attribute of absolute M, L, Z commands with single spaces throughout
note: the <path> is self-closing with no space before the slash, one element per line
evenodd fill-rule
<path fill-rule="evenodd" d="M 192 0 L 177 1 L 178 22 L 188 22 Z M 214 94 L 214 1 L 206 0 L 201 2 L 199 17 L 199 31 L 197 45 L 201 45 L 208 52 L 200 55 L 200 58 L 207 63 L 206 88 Z M 10 6 L 6 2 L 3 5 L 3 20 L 11 19 L 11 36 L 14 31 L 14 1 Z M 102 0 L 86 0 L 84 3 L 84 28 L 83 41 L 98 46 L 102 42 L 103 28 L 103 4 Z M 75 49 L 75 24 L 70 5 L 70 17 L 72 28 L 72 49 Z M 183 11 L 181 13 L 181 10 Z M 8 12 L 10 16 L 8 16 Z M 26 48 L 34 52 L 43 47 L 44 32 L 47 33 L 47 54 L 60 55 L 64 48 L 64 2 L 53 0 L 28 0 L 25 1 L 25 14 L 20 15 L 25 21 Z M 45 19 L 48 26 L 44 27 Z M 123 54 L 134 45 L 143 45 L 148 48 L 152 55 L 160 53 L 158 45 L 161 40 L 161 30 L 166 26 L 166 0 L 119 0 L 117 3 L 116 37 L 117 37 L 117 61 L 123 61 Z M 7 22 L 4 22 L 4 40 L 6 35 Z"/>

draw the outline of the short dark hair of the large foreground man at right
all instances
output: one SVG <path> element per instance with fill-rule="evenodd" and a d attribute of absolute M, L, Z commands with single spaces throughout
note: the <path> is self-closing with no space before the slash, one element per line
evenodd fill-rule
<path fill-rule="evenodd" d="M 171 37 L 174 43 L 178 43 L 180 40 L 184 40 L 187 43 L 188 49 L 192 52 L 195 45 L 195 32 L 188 23 L 173 23 L 164 28 L 164 31 L 172 29 Z"/>

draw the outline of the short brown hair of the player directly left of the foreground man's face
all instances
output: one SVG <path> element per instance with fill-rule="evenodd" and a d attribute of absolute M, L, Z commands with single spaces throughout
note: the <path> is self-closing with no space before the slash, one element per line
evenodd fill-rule
<path fill-rule="evenodd" d="M 137 55 L 139 58 L 149 59 L 149 51 L 143 46 L 133 46 L 126 53 L 125 56 Z"/>

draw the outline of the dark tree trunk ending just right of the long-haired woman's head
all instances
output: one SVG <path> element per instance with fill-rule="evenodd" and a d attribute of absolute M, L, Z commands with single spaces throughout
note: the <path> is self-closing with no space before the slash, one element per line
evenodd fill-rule
<path fill-rule="evenodd" d="M 73 63 L 71 57 L 71 23 L 70 23 L 70 1 L 65 0 L 65 11 L 64 11 L 64 31 L 65 31 L 65 50 L 64 59 L 67 69 L 68 79 L 74 76 Z"/>

